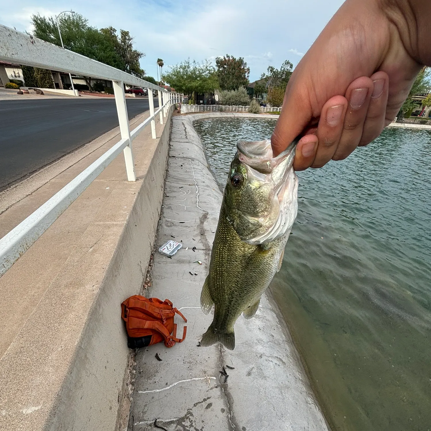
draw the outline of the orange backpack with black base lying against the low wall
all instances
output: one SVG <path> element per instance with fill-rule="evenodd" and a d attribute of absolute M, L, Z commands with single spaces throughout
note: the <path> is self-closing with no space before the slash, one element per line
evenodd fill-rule
<path fill-rule="evenodd" d="M 169 300 L 145 298 L 133 295 L 121 304 L 121 317 L 126 322 L 128 347 L 146 347 L 163 341 L 166 347 L 181 343 L 186 337 L 187 326 L 184 326 L 183 337 L 177 338 L 175 314 L 180 315 L 184 322 L 187 319 Z M 171 335 L 172 334 L 172 335 Z"/>

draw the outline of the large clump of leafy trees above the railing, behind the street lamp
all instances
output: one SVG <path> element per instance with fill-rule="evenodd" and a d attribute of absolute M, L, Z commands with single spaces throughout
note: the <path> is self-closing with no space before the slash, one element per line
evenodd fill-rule
<path fill-rule="evenodd" d="M 61 46 L 61 41 L 53 17 L 33 15 L 33 35 L 39 39 Z M 145 75 L 139 59 L 144 56 L 133 48 L 133 37 L 125 30 L 120 30 L 120 37 L 113 27 L 98 30 L 88 25 L 88 20 L 75 13 L 59 17 L 59 27 L 64 47 L 75 53 L 105 63 L 139 78 Z M 84 77 L 91 89 L 91 78 Z"/>

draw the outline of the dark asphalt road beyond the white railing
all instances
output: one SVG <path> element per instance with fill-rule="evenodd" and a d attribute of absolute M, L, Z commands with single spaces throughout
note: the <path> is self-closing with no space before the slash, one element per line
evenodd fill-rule
<path fill-rule="evenodd" d="M 126 103 L 129 119 L 149 109 L 148 98 Z M 113 98 L 2 100 L 0 191 L 116 126 Z"/>

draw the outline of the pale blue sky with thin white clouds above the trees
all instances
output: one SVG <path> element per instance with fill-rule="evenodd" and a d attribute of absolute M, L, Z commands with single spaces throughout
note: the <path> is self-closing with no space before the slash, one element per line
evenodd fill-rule
<path fill-rule="evenodd" d="M 1 0 L 1 3 L 6 0 Z M 90 25 L 130 31 L 135 48 L 145 53 L 141 67 L 156 78 L 157 58 L 165 66 L 191 60 L 214 62 L 217 56 L 244 57 L 250 81 L 269 65 L 288 59 L 294 66 L 331 19 L 342 0 L 20 0 L 2 7 L 0 23 L 32 31 L 31 16 L 72 10 Z M 37 6 L 35 6 L 37 4 Z"/>

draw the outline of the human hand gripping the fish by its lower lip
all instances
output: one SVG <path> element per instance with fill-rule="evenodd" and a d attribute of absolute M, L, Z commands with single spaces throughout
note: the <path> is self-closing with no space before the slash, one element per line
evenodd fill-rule
<path fill-rule="evenodd" d="M 412 30 L 421 20 L 407 3 L 341 6 L 290 77 L 271 138 L 275 155 L 305 133 L 294 169 L 318 168 L 369 144 L 394 119 L 428 61 L 422 33 L 431 36 Z M 429 17 L 431 6 L 421 13 Z"/>

